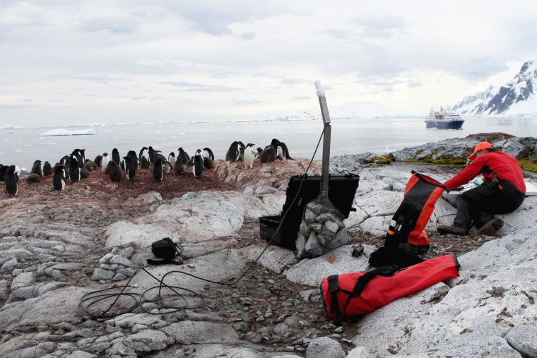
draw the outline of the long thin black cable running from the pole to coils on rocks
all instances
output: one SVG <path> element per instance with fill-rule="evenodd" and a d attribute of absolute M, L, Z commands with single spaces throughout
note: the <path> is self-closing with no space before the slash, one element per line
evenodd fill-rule
<path fill-rule="evenodd" d="M 302 180 L 300 181 L 300 185 L 298 186 L 298 190 L 297 190 L 297 193 L 295 195 L 295 198 L 293 198 L 293 201 L 288 206 L 288 209 L 285 211 L 285 213 L 283 213 L 283 215 L 281 217 L 280 225 L 278 225 L 278 227 L 276 228 L 276 231 L 272 235 L 270 241 L 268 241 L 268 243 L 266 244 L 266 246 L 263 249 L 263 251 L 261 251 L 261 253 L 259 253 L 259 256 L 257 256 L 257 258 L 254 260 L 254 262 L 252 262 L 252 264 L 249 265 L 249 267 L 244 271 L 244 273 L 242 273 L 242 275 L 240 275 L 239 278 L 237 278 L 237 280 L 235 280 L 235 282 L 218 282 L 218 281 L 208 280 L 207 278 L 201 278 L 199 276 L 192 275 L 191 273 L 186 273 L 184 271 L 179 271 L 179 270 L 169 271 L 163 276 L 163 278 L 161 278 L 159 280 L 158 278 L 155 278 L 155 276 L 151 275 L 151 273 L 149 273 L 148 270 L 146 270 L 145 268 L 138 268 L 134 272 L 134 275 L 132 275 L 131 278 L 129 278 L 129 281 L 127 281 L 126 284 L 123 285 L 123 286 L 109 287 L 109 288 L 106 288 L 106 289 L 103 289 L 103 290 L 93 291 L 93 292 L 89 292 L 88 294 L 83 295 L 83 297 L 81 298 L 80 303 L 78 304 L 78 311 L 81 311 L 83 314 L 85 314 L 87 316 L 90 316 L 91 318 L 96 318 L 98 320 L 107 320 L 107 319 L 110 319 L 110 318 L 114 318 L 116 316 L 132 312 L 135 309 L 137 309 L 138 307 L 140 307 L 144 312 L 146 312 L 148 314 L 153 314 L 151 311 L 147 311 L 146 309 L 144 309 L 143 304 L 146 303 L 146 294 L 148 292 L 150 292 L 151 290 L 155 290 L 157 288 L 158 288 L 158 304 L 157 305 L 160 307 L 160 309 L 170 310 L 170 311 L 166 311 L 164 314 L 172 314 L 172 313 L 175 313 L 177 311 L 182 311 L 183 309 L 200 309 L 200 308 L 203 308 L 203 306 L 206 306 L 205 300 L 203 299 L 203 297 L 201 297 L 200 294 L 197 294 L 196 292 L 194 292 L 192 290 L 188 290 L 187 288 L 184 288 L 184 287 L 169 286 L 169 285 L 165 284 L 164 279 L 166 278 L 167 275 L 170 275 L 171 273 L 182 273 L 183 275 L 188 275 L 188 276 L 190 276 L 192 278 L 196 278 L 198 280 L 202 280 L 202 281 L 209 282 L 209 283 L 214 283 L 216 285 L 226 285 L 226 286 L 237 285 L 237 283 L 240 282 L 240 280 L 242 280 L 242 278 L 244 278 L 244 276 L 249 272 L 249 270 L 251 270 L 252 267 L 254 267 L 254 265 L 257 263 L 257 261 L 259 261 L 259 258 L 261 258 L 261 256 L 263 256 L 263 254 L 265 253 L 266 249 L 268 249 L 268 246 L 270 246 L 272 244 L 272 241 L 276 237 L 276 234 L 278 234 L 278 232 L 280 231 L 281 225 L 283 224 L 283 220 L 288 215 L 290 208 L 293 207 L 293 204 L 295 203 L 295 201 L 297 200 L 297 198 L 298 198 L 298 196 L 300 194 L 300 189 L 302 188 L 302 184 L 304 183 L 304 181 L 306 179 L 309 167 L 312 166 L 314 157 L 317 154 L 317 150 L 319 149 L 319 144 L 321 143 L 321 139 L 324 136 L 324 130 L 325 129 L 326 129 L 326 126 L 324 126 L 323 130 L 321 131 L 321 136 L 319 137 L 319 141 L 317 141 L 317 147 L 315 147 L 314 153 L 312 155 L 312 159 L 309 160 L 309 164 L 308 164 L 304 174 L 302 175 Z M 133 292 L 125 292 L 127 287 L 137 287 L 136 285 L 130 285 L 130 283 L 131 283 L 131 280 L 140 271 L 143 271 L 143 272 L 147 273 L 153 279 L 157 280 L 159 282 L 159 285 L 150 287 L 150 288 L 148 288 L 148 290 L 144 291 L 141 294 L 133 293 Z M 182 301 L 184 302 L 184 306 L 169 306 L 169 305 L 165 305 L 164 302 L 163 302 L 163 295 L 162 295 L 163 287 L 172 290 L 172 292 L 175 292 L 175 294 L 177 294 L 177 297 L 182 299 Z M 104 293 L 104 292 L 107 292 L 107 291 L 110 291 L 110 290 L 118 290 L 118 289 L 121 289 L 121 291 L 119 293 L 118 292 Z M 190 292 L 191 294 L 194 294 L 195 297 L 198 297 L 199 299 L 201 299 L 201 302 L 203 302 L 203 304 L 201 304 L 200 306 L 189 306 L 189 302 L 187 301 L 187 299 L 185 299 L 182 296 L 182 294 L 179 294 L 179 292 L 177 292 L 177 290 L 183 290 L 183 291 L 186 291 L 186 292 Z M 131 306 L 127 306 L 127 307 L 125 307 L 124 309 L 122 309 L 119 312 L 116 312 L 116 311 L 111 312 L 111 310 L 117 304 L 117 302 L 118 302 L 120 297 L 130 297 L 131 299 L 134 299 L 135 304 L 133 304 Z M 114 299 L 112 304 L 110 304 L 110 306 L 108 306 L 107 309 L 105 309 L 104 311 L 100 311 L 100 312 L 98 311 L 96 313 L 93 313 L 91 311 L 92 306 L 95 306 L 99 302 L 103 302 L 103 301 L 105 301 L 107 299 Z M 155 302 L 152 302 L 152 303 L 155 304 Z M 163 314 L 163 313 L 159 312 L 159 314 Z"/>

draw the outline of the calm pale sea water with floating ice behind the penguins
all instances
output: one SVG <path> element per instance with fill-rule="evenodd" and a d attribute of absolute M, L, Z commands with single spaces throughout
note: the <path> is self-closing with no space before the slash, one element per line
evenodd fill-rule
<path fill-rule="evenodd" d="M 330 155 L 387 153 L 447 138 L 469 134 L 502 132 L 513 136 L 537 137 L 537 117 L 465 118 L 458 130 L 426 129 L 423 118 L 332 119 Z M 48 160 L 52 165 L 73 149 L 85 149 L 93 160 L 102 153 L 121 155 L 136 153 L 143 146 L 153 146 L 167 157 L 182 147 L 194 155 L 198 148 L 211 148 L 216 159 L 224 159 L 233 141 L 255 143 L 255 148 L 268 145 L 272 138 L 284 142 L 292 157 L 312 157 L 324 125 L 320 119 L 289 121 L 206 121 L 197 123 L 88 124 L 79 126 L 16 127 L 0 124 L 0 163 L 16 164 L 30 170 L 35 160 Z M 55 129 L 84 131 L 93 135 L 41 136 Z M 322 141 L 315 159 L 322 157 Z"/>

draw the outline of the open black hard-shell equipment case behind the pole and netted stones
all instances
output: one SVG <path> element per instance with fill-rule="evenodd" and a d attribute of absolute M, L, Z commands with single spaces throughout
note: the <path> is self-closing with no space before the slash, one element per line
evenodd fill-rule
<path fill-rule="evenodd" d="M 281 215 L 259 217 L 261 239 L 270 241 L 276 233 L 278 225 L 281 223 L 281 228 L 276 233 L 276 236 L 274 236 L 272 244 L 288 249 L 295 249 L 295 241 L 297 239 L 298 229 L 300 228 L 300 222 L 302 222 L 302 217 L 304 216 L 304 209 L 309 201 L 319 196 L 322 186 L 321 176 L 306 175 L 302 182 L 302 187 L 300 187 L 303 177 L 302 175 L 290 177 L 287 191 L 285 191 L 285 204 L 283 205 Z M 360 181 L 360 176 L 355 174 L 329 176 L 328 198 L 334 207 L 341 211 L 345 218 L 348 217 L 350 211 L 356 211 L 353 208 L 353 201 L 356 190 L 358 189 L 358 181 Z M 300 193 L 298 191 L 299 188 Z M 297 196 L 297 199 L 293 203 L 295 196 Z M 285 220 L 281 222 L 281 218 L 287 210 L 289 212 L 285 216 Z"/>

